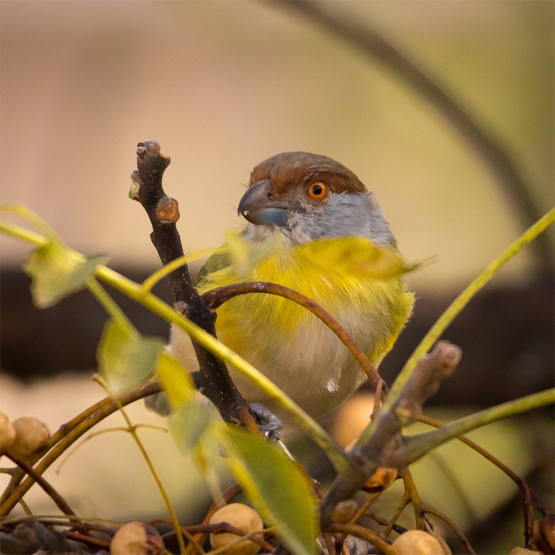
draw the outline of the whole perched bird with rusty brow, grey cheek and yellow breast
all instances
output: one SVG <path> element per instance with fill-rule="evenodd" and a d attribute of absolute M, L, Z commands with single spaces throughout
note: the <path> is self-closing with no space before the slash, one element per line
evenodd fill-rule
<path fill-rule="evenodd" d="M 270 281 L 301 292 L 328 311 L 377 366 L 412 312 L 414 295 L 400 276 L 375 279 L 326 266 L 326 240 L 366 239 L 398 253 L 375 194 L 344 165 L 324 155 L 283 152 L 256 165 L 238 214 L 245 243 L 261 248 L 247 264 L 214 254 L 199 271 L 200 293 L 244 281 Z M 266 250 L 262 248 L 267 246 Z M 300 255 L 314 246 L 312 258 Z M 316 264 L 315 258 L 316 256 Z M 321 260 L 319 260 L 321 259 Z M 216 335 L 319 420 L 352 395 L 367 376 L 317 317 L 280 296 L 236 296 L 217 310 Z M 198 369 L 189 336 L 175 325 L 169 349 L 188 370 Z M 239 371 L 230 375 L 248 402 L 262 403 L 282 422 L 291 416 Z"/>

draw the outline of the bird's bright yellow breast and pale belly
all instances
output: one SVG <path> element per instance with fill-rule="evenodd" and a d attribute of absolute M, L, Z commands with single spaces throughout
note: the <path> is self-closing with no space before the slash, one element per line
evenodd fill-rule
<path fill-rule="evenodd" d="M 306 295 L 330 312 L 376 363 L 391 349 L 413 304 L 412 293 L 398 278 L 362 279 L 316 268 L 291 248 L 275 249 L 247 268 L 219 270 L 199 290 L 242 281 L 271 281 Z M 264 293 L 241 295 L 217 312 L 219 339 L 312 416 L 329 412 L 365 380 L 333 332 L 295 302 Z M 250 392 L 244 395 L 249 398 Z"/>

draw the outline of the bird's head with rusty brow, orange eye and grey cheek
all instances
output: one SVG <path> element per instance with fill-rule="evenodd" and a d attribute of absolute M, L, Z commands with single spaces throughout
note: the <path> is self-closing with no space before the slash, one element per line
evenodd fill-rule
<path fill-rule="evenodd" d="M 246 236 L 281 233 L 291 245 L 322 237 L 364 236 L 395 246 L 374 193 L 344 165 L 320 154 L 283 152 L 253 169 L 238 213 Z"/>

